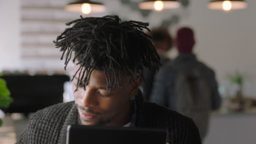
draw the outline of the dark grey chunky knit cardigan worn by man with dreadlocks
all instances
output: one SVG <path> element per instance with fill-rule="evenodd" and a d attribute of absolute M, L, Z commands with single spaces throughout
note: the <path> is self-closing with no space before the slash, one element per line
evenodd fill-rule
<path fill-rule="evenodd" d="M 190 118 L 166 107 L 144 101 L 141 97 L 143 96 L 140 95 L 136 100 L 135 127 L 167 129 L 167 141 L 171 144 L 201 143 L 199 131 Z M 67 126 L 79 124 L 78 119 L 78 110 L 74 101 L 47 107 L 34 113 L 17 143 L 65 144 Z"/>

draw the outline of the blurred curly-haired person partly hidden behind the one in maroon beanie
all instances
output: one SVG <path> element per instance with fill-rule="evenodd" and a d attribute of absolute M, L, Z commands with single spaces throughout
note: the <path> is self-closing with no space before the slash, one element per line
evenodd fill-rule
<path fill-rule="evenodd" d="M 160 56 L 161 65 L 165 65 L 170 61 L 166 57 L 166 52 L 172 48 L 172 37 L 166 28 L 154 28 L 148 33 L 152 37 L 151 41 Z M 149 100 L 150 94 L 153 89 L 155 75 L 158 72 L 156 67 L 151 69 L 144 69 L 144 82 L 141 83 L 142 92 L 145 100 Z"/>

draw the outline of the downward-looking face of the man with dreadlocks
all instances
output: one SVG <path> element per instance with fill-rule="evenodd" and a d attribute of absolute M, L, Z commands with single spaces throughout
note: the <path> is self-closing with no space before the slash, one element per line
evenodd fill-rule
<path fill-rule="evenodd" d="M 80 65 L 75 65 L 74 74 Z M 79 74 L 79 73 L 78 73 Z M 93 70 L 89 84 L 78 86 L 78 75 L 73 80 L 73 94 L 83 125 L 122 126 L 130 122 L 130 98 L 135 95 L 133 86 L 129 85 L 129 77 L 122 77 L 122 87 L 106 90 L 107 81 L 104 71 Z"/>

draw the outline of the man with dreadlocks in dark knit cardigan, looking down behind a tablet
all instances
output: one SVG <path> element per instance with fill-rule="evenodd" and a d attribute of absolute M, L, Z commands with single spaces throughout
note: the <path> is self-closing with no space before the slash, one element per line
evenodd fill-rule
<path fill-rule="evenodd" d="M 74 101 L 36 112 L 18 143 L 65 143 L 69 124 L 164 128 L 167 142 L 201 143 L 194 122 L 143 100 L 143 69 L 158 67 L 159 56 L 143 29 L 148 23 L 118 16 L 81 17 L 67 23 L 56 41 L 73 69 Z M 74 53 L 74 55 L 73 55 Z M 85 135 L 86 136 L 86 135 Z"/>

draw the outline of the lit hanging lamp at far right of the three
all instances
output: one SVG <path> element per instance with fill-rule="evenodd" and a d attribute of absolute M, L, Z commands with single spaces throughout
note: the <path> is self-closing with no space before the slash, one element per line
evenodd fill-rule
<path fill-rule="evenodd" d="M 209 9 L 215 10 L 233 10 L 233 9 L 245 9 L 247 7 L 247 3 L 243 0 L 230 0 L 230 1 L 211 1 L 208 3 Z"/>

